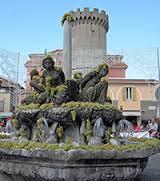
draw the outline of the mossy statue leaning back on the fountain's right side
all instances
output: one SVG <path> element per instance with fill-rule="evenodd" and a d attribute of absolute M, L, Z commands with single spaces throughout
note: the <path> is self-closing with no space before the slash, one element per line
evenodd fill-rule
<path fill-rule="evenodd" d="M 108 83 L 105 78 L 101 80 L 107 74 L 108 66 L 107 64 L 102 64 L 79 80 L 83 101 L 107 102 Z"/>

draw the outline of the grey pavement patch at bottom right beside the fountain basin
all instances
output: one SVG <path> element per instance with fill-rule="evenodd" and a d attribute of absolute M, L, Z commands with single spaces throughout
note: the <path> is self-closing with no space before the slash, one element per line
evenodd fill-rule
<path fill-rule="evenodd" d="M 160 153 L 149 158 L 146 169 L 135 181 L 160 181 Z"/>

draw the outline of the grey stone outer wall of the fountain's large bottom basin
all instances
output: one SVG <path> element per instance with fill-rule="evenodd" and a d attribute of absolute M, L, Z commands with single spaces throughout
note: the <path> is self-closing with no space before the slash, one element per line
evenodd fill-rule
<path fill-rule="evenodd" d="M 148 157 L 160 148 L 142 150 L 34 150 L 0 149 L 3 181 L 129 180 L 139 175 Z"/>

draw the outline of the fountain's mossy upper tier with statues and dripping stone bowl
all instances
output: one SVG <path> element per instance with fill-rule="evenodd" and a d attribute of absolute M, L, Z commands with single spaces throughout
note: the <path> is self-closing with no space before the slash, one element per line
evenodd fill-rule
<path fill-rule="evenodd" d="M 42 66 L 41 74 L 36 69 L 31 71 L 33 92 L 17 112 L 19 122 L 30 130 L 29 139 L 61 143 L 72 138 L 89 145 L 108 142 L 106 130 L 111 130 L 121 116 L 107 99 L 108 65 L 101 64 L 84 77 L 76 73 L 71 80 L 65 80 L 63 70 L 49 55 Z"/>

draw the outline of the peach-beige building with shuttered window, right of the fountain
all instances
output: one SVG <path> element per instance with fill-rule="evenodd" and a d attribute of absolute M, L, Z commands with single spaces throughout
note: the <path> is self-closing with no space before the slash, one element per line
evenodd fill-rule
<path fill-rule="evenodd" d="M 128 120 L 156 117 L 157 80 L 109 78 L 108 97 Z"/>

